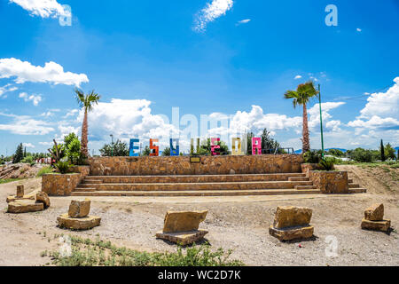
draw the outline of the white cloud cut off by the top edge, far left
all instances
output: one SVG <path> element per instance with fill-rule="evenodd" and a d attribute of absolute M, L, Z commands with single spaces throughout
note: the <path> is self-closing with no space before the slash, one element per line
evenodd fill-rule
<path fill-rule="evenodd" d="M 55 18 L 68 15 L 68 12 L 56 0 L 10 0 L 10 2 L 19 4 L 23 9 L 30 12 L 31 15 L 42 18 Z"/>

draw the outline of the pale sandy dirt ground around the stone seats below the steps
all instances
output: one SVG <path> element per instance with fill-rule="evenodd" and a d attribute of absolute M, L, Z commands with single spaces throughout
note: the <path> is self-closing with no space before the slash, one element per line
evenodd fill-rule
<path fill-rule="evenodd" d="M 5 213 L 7 195 L 23 184 L 26 192 L 41 186 L 41 178 L 28 178 L 0 185 L 0 265 L 43 265 L 51 263 L 44 250 L 58 249 L 54 234 L 75 234 L 100 238 L 115 245 L 146 251 L 175 251 L 176 246 L 156 240 L 167 210 L 208 209 L 207 229 L 212 248 L 231 248 L 232 258 L 248 265 L 399 265 L 399 169 L 367 169 L 339 166 L 349 177 L 367 188 L 367 193 L 348 195 L 285 195 L 252 197 L 93 197 L 91 214 L 102 217 L 101 225 L 86 232 L 69 232 L 56 226 L 57 216 L 66 213 L 72 197 L 51 197 L 51 208 L 27 214 Z M 83 199 L 83 198 L 77 198 Z M 390 234 L 360 228 L 364 209 L 383 202 Z M 270 236 L 278 206 L 313 209 L 310 241 L 280 242 Z M 326 254 L 337 241 L 337 256 Z M 301 247 L 299 246 L 301 244 Z"/>

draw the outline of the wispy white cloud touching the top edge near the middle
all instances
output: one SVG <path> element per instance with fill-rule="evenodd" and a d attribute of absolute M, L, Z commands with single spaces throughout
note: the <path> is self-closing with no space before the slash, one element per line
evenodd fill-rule
<path fill-rule="evenodd" d="M 207 3 L 207 6 L 196 15 L 194 29 L 199 32 L 205 31 L 207 23 L 225 15 L 232 6 L 233 0 L 212 0 L 211 3 Z"/>

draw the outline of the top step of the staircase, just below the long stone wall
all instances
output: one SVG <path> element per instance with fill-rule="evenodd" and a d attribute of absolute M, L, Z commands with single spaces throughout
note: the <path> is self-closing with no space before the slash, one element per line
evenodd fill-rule
<path fill-rule="evenodd" d="M 104 184 L 155 184 L 155 183 L 220 183 L 250 181 L 288 181 L 289 177 L 305 177 L 302 173 L 247 174 L 247 175 L 177 175 L 177 176 L 88 176 L 87 180 L 101 180 Z"/>

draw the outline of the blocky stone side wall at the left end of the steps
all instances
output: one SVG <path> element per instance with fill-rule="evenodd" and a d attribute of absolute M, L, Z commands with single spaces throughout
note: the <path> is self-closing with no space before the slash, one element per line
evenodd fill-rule
<path fill-rule="evenodd" d="M 90 174 L 89 166 L 74 166 L 68 174 L 45 174 L 42 177 L 42 191 L 51 196 L 66 196 Z"/>

